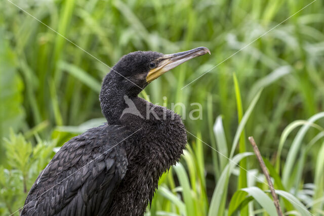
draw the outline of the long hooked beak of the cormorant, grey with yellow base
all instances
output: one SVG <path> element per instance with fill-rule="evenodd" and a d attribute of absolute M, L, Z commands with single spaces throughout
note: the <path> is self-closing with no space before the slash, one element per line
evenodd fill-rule
<path fill-rule="evenodd" d="M 181 53 L 164 55 L 157 59 L 157 61 L 159 62 L 158 65 L 148 72 L 146 76 L 146 82 L 150 83 L 172 68 L 175 68 L 194 57 L 205 55 L 206 53 L 211 54 L 209 49 L 207 49 L 206 47 L 198 47 L 193 50 L 188 50 Z"/>

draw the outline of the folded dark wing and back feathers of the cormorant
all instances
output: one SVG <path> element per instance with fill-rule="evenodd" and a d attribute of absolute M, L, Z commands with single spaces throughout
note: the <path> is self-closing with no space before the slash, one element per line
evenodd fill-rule
<path fill-rule="evenodd" d="M 127 170 L 120 125 L 102 125 L 72 138 L 29 191 L 21 215 L 104 215 Z"/>

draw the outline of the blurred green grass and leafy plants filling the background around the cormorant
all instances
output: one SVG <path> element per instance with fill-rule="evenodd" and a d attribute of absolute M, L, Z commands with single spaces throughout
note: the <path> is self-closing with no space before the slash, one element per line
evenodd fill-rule
<path fill-rule="evenodd" d="M 251 135 L 284 212 L 324 214 L 322 1 L 297 14 L 311 1 L 10 1 L 0 4 L 0 215 L 23 206 L 58 147 L 104 121 L 105 64 L 199 46 L 212 55 L 145 90 L 154 103 L 186 104 L 187 116 L 190 103 L 204 109 L 202 120 L 184 120 L 188 148 L 147 215 L 276 215 Z"/>

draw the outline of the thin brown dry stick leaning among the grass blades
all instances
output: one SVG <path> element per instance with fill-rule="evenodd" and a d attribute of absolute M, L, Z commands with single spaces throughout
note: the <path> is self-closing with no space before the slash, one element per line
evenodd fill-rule
<path fill-rule="evenodd" d="M 260 163 L 260 166 L 262 168 L 262 171 L 265 175 L 265 178 L 267 179 L 268 181 L 268 186 L 270 188 L 270 191 L 271 191 L 271 195 L 272 195 L 272 198 L 273 198 L 273 201 L 274 201 L 274 205 L 275 205 L 275 208 L 277 209 L 277 213 L 278 213 L 278 216 L 282 216 L 282 211 L 281 211 L 281 208 L 280 208 L 280 205 L 279 205 L 279 200 L 278 200 L 278 197 L 277 197 L 277 194 L 274 192 L 274 188 L 273 188 L 273 184 L 271 182 L 271 179 L 270 179 L 270 175 L 269 175 L 269 172 L 268 172 L 268 169 L 267 167 L 265 166 L 265 163 L 262 159 L 262 156 L 260 154 L 260 151 L 258 149 L 258 146 L 257 144 L 255 143 L 253 137 L 249 137 L 249 141 L 251 143 L 251 145 L 253 146 L 253 150 L 254 150 L 254 153 L 255 155 L 257 156 L 258 158 L 258 161 Z"/>

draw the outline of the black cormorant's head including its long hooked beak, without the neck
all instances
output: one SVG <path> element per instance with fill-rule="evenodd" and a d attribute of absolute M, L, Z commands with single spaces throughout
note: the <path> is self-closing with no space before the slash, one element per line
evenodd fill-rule
<path fill-rule="evenodd" d="M 123 56 L 110 73 L 114 73 L 115 79 L 120 82 L 127 95 L 132 97 L 138 95 L 150 82 L 165 72 L 206 53 L 210 54 L 206 47 L 167 55 L 152 51 L 137 51 Z"/>

